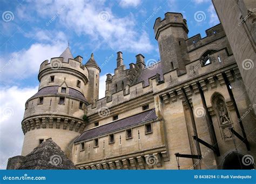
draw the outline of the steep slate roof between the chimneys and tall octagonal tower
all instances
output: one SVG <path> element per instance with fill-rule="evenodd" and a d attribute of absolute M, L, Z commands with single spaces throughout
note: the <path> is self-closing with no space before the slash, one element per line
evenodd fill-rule
<path fill-rule="evenodd" d="M 145 86 L 149 85 L 149 78 L 156 76 L 156 74 L 160 74 L 160 79 L 163 80 L 163 70 L 162 70 L 162 63 L 158 62 L 154 65 L 151 65 L 149 67 L 146 67 L 143 71 L 142 74 L 140 75 L 138 79 L 138 83 L 141 81 L 144 81 Z"/>

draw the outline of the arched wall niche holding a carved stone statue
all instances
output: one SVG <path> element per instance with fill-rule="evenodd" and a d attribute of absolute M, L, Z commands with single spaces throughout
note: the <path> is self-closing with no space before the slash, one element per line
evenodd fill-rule
<path fill-rule="evenodd" d="M 212 106 L 219 121 L 223 139 L 231 138 L 232 134 L 230 132 L 230 127 L 233 126 L 233 123 L 230 119 L 230 113 L 227 109 L 224 97 L 219 93 L 214 93 L 212 96 Z"/>

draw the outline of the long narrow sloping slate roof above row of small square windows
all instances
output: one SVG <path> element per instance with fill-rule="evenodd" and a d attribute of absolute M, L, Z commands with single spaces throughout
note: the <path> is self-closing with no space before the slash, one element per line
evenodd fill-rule
<path fill-rule="evenodd" d="M 96 128 L 92 128 L 91 130 L 87 130 L 87 131 L 83 132 L 75 140 L 75 142 L 91 139 L 93 137 L 97 137 L 98 135 L 117 131 L 117 130 L 123 129 L 125 127 L 139 124 L 140 122 L 144 122 L 144 121 L 148 121 L 148 120 L 152 120 L 152 119 L 156 119 L 156 118 L 157 118 L 157 115 L 156 115 L 155 109 L 145 111 L 143 113 L 132 115 L 131 117 L 128 117 L 128 118 L 113 121 L 109 124 L 102 125 L 102 126 L 99 126 Z"/>

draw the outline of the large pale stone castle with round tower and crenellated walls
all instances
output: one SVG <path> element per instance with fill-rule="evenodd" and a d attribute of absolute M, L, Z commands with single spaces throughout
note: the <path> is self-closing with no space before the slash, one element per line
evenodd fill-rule
<path fill-rule="evenodd" d="M 39 69 L 26 101 L 22 155 L 52 138 L 79 169 L 254 168 L 255 114 L 230 43 L 218 24 L 188 38 L 181 13 L 154 23 L 160 61 L 123 63 L 117 52 L 105 98 L 93 54 L 68 48 Z"/>

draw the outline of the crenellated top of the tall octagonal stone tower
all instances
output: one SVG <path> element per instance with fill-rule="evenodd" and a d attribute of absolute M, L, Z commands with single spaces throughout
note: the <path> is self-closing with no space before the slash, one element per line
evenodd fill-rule
<path fill-rule="evenodd" d="M 154 22 L 153 29 L 156 35 L 156 39 L 159 35 L 159 31 L 167 25 L 182 26 L 185 32 L 188 33 L 187 21 L 183 18 L 183 15 L 181 13 L 167 12 L 165 13 L 165 18 L 163 20 L 158 17 L 156 22 Z"/>

